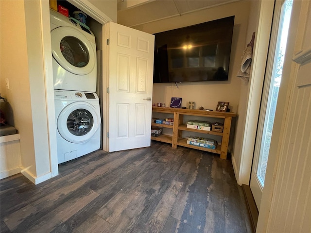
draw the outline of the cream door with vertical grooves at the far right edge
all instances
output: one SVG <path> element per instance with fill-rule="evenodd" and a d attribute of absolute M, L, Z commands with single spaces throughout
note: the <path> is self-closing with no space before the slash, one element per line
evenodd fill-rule
<path fill-rule="evenodd" d="M 311 1 L 293 1 L 257 232 L 311 232 Z M 278 106 L 279 107 L 279 106 Z"/>

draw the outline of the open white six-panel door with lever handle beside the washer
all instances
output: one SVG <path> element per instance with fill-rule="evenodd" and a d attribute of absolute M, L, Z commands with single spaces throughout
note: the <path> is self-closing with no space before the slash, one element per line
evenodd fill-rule
<path fill-rule="evenodd" d="M 154 35 L 113 22 L 109 39 L 109 151 L 150 146 Z"/>

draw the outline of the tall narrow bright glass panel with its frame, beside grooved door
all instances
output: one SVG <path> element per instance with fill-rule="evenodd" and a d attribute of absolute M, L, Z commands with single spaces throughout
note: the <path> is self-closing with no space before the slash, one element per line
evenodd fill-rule
<path fill-rule="evenodd" d="M 261 97 L 250 188 L 259 209 L 275 120 L 278 90 L 282 78 L 287 34 L 293 0 L 276 1 L 273 30 Z"/>

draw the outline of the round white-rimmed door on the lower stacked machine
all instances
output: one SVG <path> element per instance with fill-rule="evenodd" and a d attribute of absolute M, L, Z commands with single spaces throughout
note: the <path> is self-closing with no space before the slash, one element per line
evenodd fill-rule
<path fill-rule="evenodd" d="M 79 101 L 66 106 L 57 118 L 57 130 L 67 141 L 82 143 L 98 130 L 100 116 L 89 103 Z"/>

